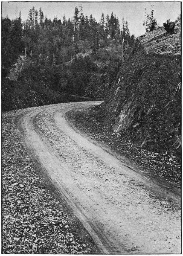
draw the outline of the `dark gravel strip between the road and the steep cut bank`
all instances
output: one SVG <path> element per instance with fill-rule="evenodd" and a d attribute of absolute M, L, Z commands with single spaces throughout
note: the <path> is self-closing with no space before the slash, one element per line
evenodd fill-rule
<path fill-rule="evenodd" d="M 155 153 L 140 148 L 131 140 L 123 137 L 122 134 L 114 133 L 110 127 L 104 125 L 102 117 L 98 113 L 99 106 L 90 107 L 83 110 L 67 112 L 67 118 L 87 136 L 96 140 L 118 154 L 123 154 L 134 163 L 149 168 L 151 173 L 159 177 L 164 177 L 170 183 L 176 184 L 180 188 L 181 183 L 181 163 L 176 156 Z"/>

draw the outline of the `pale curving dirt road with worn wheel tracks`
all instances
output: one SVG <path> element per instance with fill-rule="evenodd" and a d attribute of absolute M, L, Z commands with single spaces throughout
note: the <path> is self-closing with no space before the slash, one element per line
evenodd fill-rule
<path fill-rule="evenodd" d="M 19 128 L 32 159 L 102 253 L 180 253 L 180 196 L 65 119 L 67 111 L 99 103 L 49 105 L 21 116 Z"/>

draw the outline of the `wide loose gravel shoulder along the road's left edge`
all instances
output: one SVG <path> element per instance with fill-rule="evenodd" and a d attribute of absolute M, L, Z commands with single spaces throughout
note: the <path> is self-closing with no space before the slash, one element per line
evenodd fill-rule
<path fill-rule="evenodd" d="M 26 111 L 2 114 L 2 253 L 96 253 L 86 231 L 88 240 L 78 236 L 77 224 L 38 176 L 20 142 L 16 119 Z"/>

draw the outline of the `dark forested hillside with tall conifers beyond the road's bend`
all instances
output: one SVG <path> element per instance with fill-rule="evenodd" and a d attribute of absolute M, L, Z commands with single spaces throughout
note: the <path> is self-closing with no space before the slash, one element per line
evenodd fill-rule
<path fill-rule="evenodd" d="M 120 17 L 122 18 L 122 17 Z M 121 65 L 122 40 L 133 45 L 128 22 L 112 14 L 96 22 L 73 10 L 73 20 L 44 17 L 2 20 L 2 108 L 104 99 Z"/>

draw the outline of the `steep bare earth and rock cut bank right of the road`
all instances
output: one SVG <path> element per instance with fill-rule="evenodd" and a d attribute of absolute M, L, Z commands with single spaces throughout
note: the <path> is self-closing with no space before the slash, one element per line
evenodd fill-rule
<path fill-rule="evenodd" d="M 180 155 L 180 20 L 140 36 L 100 114 L 115 133 L 150 151 Z"/>

